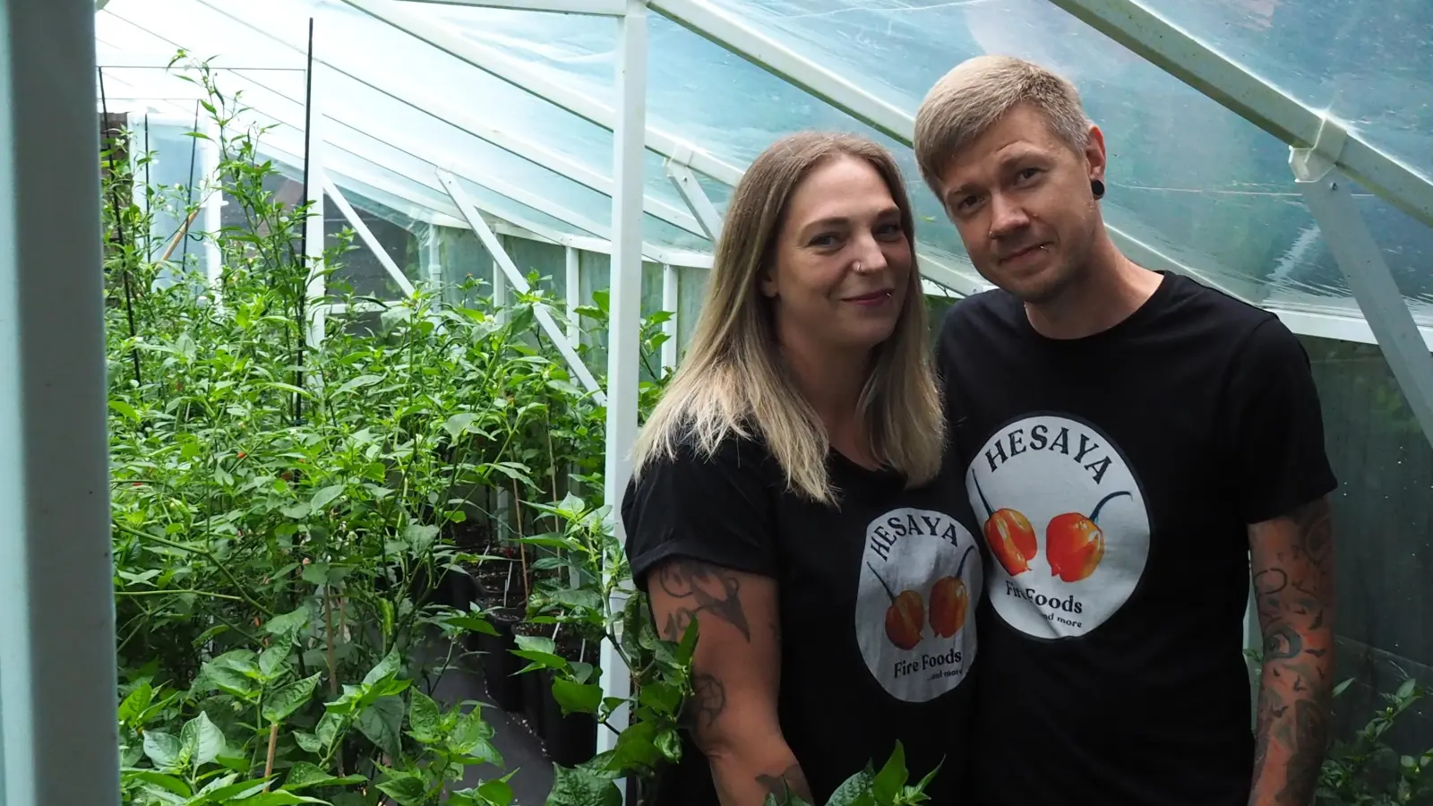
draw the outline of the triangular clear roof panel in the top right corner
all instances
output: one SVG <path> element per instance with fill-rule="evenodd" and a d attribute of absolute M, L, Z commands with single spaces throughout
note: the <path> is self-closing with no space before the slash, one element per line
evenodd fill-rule
<path fill-rule="evenodd" d="M 1224 56 L 1433 176 L 1433 3 L 1141 0 Z"/>

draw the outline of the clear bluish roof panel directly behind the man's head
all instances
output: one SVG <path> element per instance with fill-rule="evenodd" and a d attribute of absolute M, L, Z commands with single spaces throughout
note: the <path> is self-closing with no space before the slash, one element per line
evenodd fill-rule
<path fill-rule="evenodd" d="M 1294 188 L 1284 143 L 1043 0 L 926 7 L 870 7 L 857 0 L 714 1 L 795 52 L 841 75 L 863 76 L 871 92 L 911 113 L 946 70 L 970 56 L 1010 53 L 1049 66 L 1079 86 L 1105 131 L 1111 168 L 1102 207 L 1111 227 L 1252 301 L 1356 310 Z M 684 43 L 678 53 L 702 57 L 698 44 Z M 764 96 L 755 86 L 745 85 L 747 95 Z M 781 90 L 774 92 L 772 98 L 781 98 Z M 770 119 L 790 126 L 805 109 L 790 99 L 785 105 L 797 115 L 777 106 Z M 805 102 L 805 108 L 815 106 Z M 835 120 L 827 125 L 853 128 Z M 917 212 L 926 218 L 923 240 L 963 254 L 954 228 L 920 182 L 910 151 L 897 153 Z M 1433 248 L 1433 235 L 1399 224 L 1387 205 L 1367 204 L 1366 215 L 1396 264 L 1404 294 L 1423 297 L 1422 277 L 1430 267 L 1420 255 Z"/>

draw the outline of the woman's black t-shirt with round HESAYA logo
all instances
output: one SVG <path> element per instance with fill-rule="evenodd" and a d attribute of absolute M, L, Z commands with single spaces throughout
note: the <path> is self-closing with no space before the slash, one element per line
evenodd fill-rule
<path fill-rule="evenodd" d="M 959 475 L 906 489 L 831 452 L 840 508 L 787 492 L 759 440 L 715 456 L 684 446 L 628 488 L 622 519 L 638 587 L 686 556 L 777 581 L 782 733 L 817 803 L 898 739 L 910 782 L 940 766 L 931 803 L 954 803 L 969 763 L 970 675 L 982 562 Z M 900 601 L 894 617 L 893 601 Z M 969 605 L 963 607 L 963 602 Z M 914 607 L 911 607 L 914 605 Z M 698 638 L 699 641 L 699 638 Z M 897 645 L 898 643 L 898 645 Z M 686 737 L 663 806 L 715 806 L 711 770 Z"/>

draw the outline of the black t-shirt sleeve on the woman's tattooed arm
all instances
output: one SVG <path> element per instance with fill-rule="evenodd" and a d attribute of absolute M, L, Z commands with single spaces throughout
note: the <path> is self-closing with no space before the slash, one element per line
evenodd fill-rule
<path fill-rule="evenodd" d="M 684 443 L 675 459 L 642 470 L 622 505 L 632 581 L 646 591 L 646 572 L 684 556 L 732 571 L 775 575 L 775 535 L 765 452 L 725 440 L 706 456 Z"/>

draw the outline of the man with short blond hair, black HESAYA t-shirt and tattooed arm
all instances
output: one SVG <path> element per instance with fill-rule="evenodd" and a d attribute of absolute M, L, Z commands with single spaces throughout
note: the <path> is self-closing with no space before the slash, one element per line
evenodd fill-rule
<path fill-rule="evenodd" d="M 939 341 L 990 565 L 974 802 L 1307 806 L 1331 696 L 1337 482 L 1301 344 L 1119 252 L 1099 209 L 1103 135 L 1068 80 L 969 60 L 926 98 L 914 145 L 997 287 L 956 304 Z"/>

